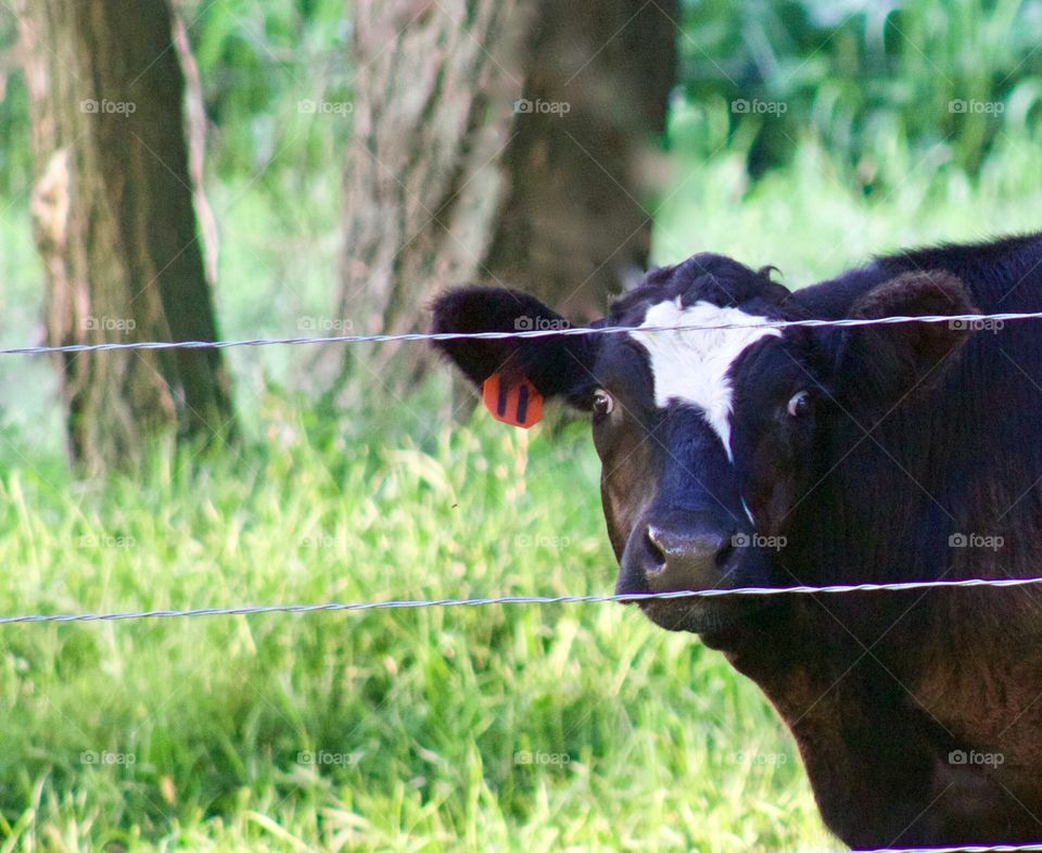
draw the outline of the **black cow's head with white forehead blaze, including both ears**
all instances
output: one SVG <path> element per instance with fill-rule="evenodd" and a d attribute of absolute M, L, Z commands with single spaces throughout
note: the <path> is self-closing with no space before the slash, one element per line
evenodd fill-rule
<path fill-rule="evenodd" d="M 543 396 L 590 412 L 619 593 L 787 586 L 795 578 L 775 549 L 828 472 L 830 424 L 871 423 L 930 385 L 966 334 L 948 323 L 764 328 L 801 319 L 793 302 L 770 270 L 700 254 L 650 272 L 601 321 L 637 331 L 439 347 L 479 385 L 494 374 L 504 387 L 524 378 Z M 957 279 L 924 272 L 873 288 L 848 314 L 973 310 Z M 727 328 L 651 330 L 676 326 Z M 465 288 L 434 305 L 435 332 L 554 327 L 567 323 L 504 289 Z M 663 627 L 707 633 L 759 600 L 675 598 L 641 608 Z"/>

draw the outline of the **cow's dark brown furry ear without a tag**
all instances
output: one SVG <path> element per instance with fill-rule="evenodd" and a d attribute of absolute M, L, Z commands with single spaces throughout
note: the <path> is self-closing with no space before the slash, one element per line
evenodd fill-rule
<path fill-rule="evenodd" d="M 979 314 L 966 285 L 943 270 L 904 272 L 863 294 L 855 319 Z M 974 332 L 965 320 L 857 326 L 841 336 L 838 387 L 893 405 L 931 387 L 954 364 Z"/>

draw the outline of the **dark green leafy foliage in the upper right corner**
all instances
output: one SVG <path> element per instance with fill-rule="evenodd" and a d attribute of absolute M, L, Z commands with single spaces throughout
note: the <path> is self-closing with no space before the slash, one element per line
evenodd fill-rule
<path fill-rule="evenodd" d="M 1042 118 L 1042 10 L 1022 0 L 686 0 L 674 145 L 753 177 L 810 137 L 871 192 L 891 140 L 978 175 Z"/>

